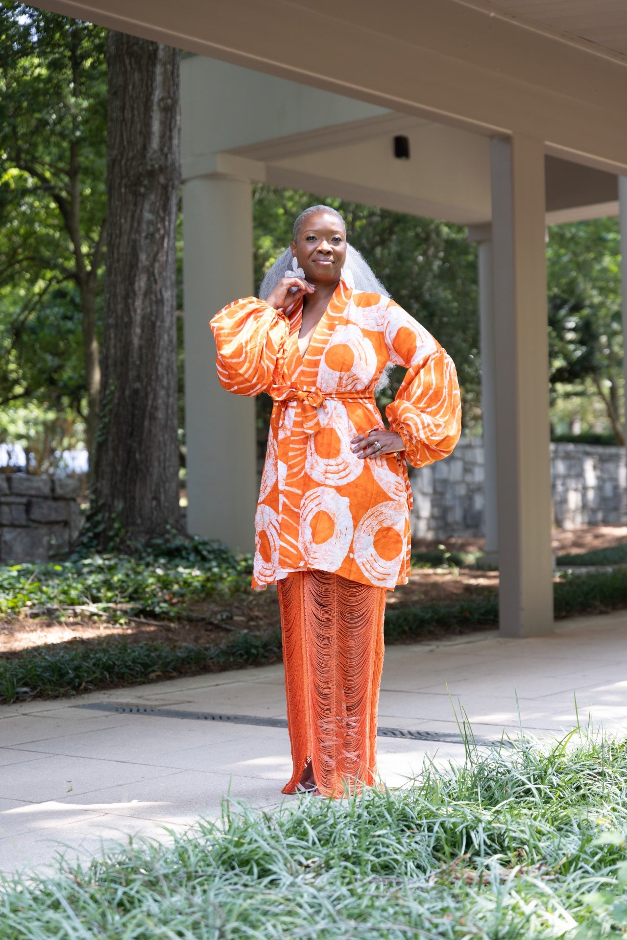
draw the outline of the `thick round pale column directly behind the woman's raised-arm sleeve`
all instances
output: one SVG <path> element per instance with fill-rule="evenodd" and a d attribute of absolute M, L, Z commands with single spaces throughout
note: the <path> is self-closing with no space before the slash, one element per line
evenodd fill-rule
<path fill-rule="evenodd" d="M 222 306 L 253 293 L 250 182 L 187 180 L 183 239 L 187 527 L 250 552 L 258 495 L 255 400 L 218 383 L 209 328 Z"/>

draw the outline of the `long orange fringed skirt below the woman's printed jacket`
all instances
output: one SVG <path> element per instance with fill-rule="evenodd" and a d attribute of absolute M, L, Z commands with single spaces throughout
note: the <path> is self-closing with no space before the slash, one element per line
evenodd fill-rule
<path fill-rule="evenodd" d="M 295 792 L 307 759 L 324 796 L 371 786 L 386 590 L 318 571 L 277 587 L 293 761 L 283 792 Z"/>

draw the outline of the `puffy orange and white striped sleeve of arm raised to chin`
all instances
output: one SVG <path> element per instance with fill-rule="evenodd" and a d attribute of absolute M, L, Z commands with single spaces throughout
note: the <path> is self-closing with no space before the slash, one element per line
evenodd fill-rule
<path fill-rule="evenodd" d="M 228 392 L 259 395 L 283 381 L 290 324 L 274 306 L 245 297 L 228 304 L 210 322 L 218 379 Z"/>

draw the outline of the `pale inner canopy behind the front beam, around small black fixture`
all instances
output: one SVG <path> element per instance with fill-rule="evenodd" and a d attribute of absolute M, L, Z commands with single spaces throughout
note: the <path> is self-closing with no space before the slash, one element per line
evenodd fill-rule
<path fill-rule="evenodd" d="M 490 138 L 205 56 L 182 68 L 182 177 L 221 173 L 460 225 L 492 219 Z M 396 134 L 410 159 L 394 157 Z M 549 225 L 617 215 L 616 174 L 547 155 Z"/>

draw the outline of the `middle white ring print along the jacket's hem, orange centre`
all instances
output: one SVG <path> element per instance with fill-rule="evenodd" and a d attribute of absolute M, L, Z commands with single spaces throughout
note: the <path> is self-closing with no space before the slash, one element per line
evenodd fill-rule
<path fill-rule="evenodd" d="M 351 503 L 329 487 L 309 490 L 301 503 L 298 547 L 307 563 L 335 572 L 353 539 Z"/>

